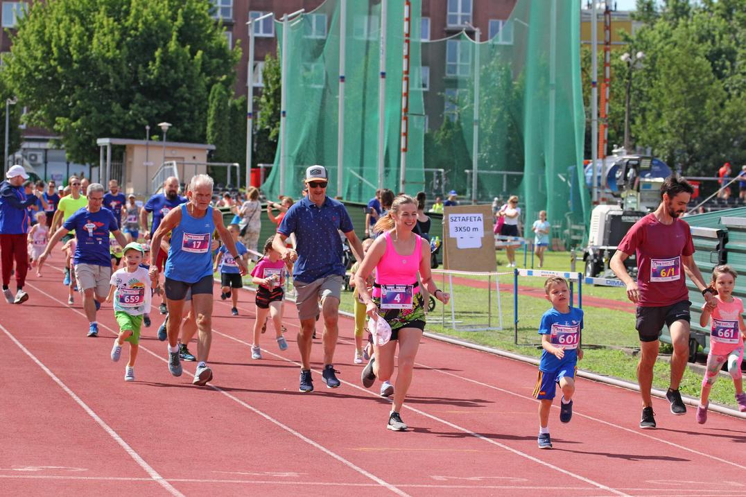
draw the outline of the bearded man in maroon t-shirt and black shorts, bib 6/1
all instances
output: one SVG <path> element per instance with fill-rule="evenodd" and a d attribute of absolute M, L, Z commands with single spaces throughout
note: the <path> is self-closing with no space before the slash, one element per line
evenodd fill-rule
<path fill-rule="evenodd" d="M 651 387 L 653 365 L 658 357 L 658 336 L 663 325 L 668 325 L 674 345 L 671 385 L 665 396 L 671 403 L 671 413 L 686 414 L 679 383 L 689 357 L 689 306 L 692 303 L 682 269 L 697 285 L 708 304 L 715 301 L 712 290 L 704 284 L 695 264 L 695 247 L 689 225 L 679 219 L 686 212 L 686 204 L 692 193 L 692 185 L 679 175 L 665 178 L 660 188 L 660 205 L 627 232 L 609 263 L 609 267 L 627 285 L 627 297 L 637 304 L 636 328 L 640 337 L 637 381 L 642 396 L 640 428 L 656 427 Z M 624 260 L 633 253 L 637 257 L 637 282 L 624 268 Z"/>

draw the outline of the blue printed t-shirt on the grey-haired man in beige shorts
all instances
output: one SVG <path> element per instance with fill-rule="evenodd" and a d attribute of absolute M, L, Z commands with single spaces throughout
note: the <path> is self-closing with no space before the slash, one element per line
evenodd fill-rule
<path fill-rule="evenodd" d="M 78 239 L 75 264 L 111 266 L 109 233 L 119 230 L 119 226 L 110 210 L 101 207 L 96 212 L 88 212 L 87 207 L 81 207 L 67 218 L 63 228 L 75 230 L 75 238 Z"/>

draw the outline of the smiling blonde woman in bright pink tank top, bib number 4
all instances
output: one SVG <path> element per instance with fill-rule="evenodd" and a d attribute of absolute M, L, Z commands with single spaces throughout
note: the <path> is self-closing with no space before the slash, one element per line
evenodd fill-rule
<path fill-rule="evenodd" d="M 382 396 L 391 395 L 388 384 L 394 374 L 396 346 L 399 346 L 398 374 L 394 384 L 394 402 L 386 428 L 406 431 L 399 411 L 412 384 L 412 372 L 419 342 L 424 330 L 424 299 L 417 283 L 443 304 L 448 293 L 439 290 L 430 273 L 430 246 L 412 233 L 417 224 L 417 202 L 408 195 L 394 199 L 391 209 L 375 224 L 373 231 L 382 233 L 369 248 L 360 269 L 355 273 L 355 285 L 366 304 L 366 313 L 386 319 L 391 326 L 391 340 L 383 346 L 374 343 L 374 354 L 363 369 L 363 386 L 372 387 L 376 378 L 384 382 Z M 375 269 L 372 295 L 365 281 Z"/>

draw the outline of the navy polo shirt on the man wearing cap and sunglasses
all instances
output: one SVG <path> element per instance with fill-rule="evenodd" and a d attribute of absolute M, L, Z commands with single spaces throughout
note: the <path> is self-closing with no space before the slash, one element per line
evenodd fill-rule
<path fill-rule="evenodd" d="M 349 233 L 354 226 L 345 205 L 328 196 L 321 208 L 306 197 L 287 210 L 278 233 L 286 237 L 295 233 L 298 260 L 293 279 L 310 283 L 331 275 L 345 275 L 344 248 L 338 230 Z"/>

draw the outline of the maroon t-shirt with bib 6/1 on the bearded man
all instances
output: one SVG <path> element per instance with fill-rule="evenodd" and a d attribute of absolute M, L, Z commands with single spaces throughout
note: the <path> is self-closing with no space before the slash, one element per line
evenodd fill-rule
<path fill-rule="evenodd" d="M 625 254 L 636 251 L 640 307 L 675 304 L 689 298 L 682 256 L 695 253 L 689 225 L 674 218 L 664 225 L 654 214 L 640 219 L 617 247 Z"/>

